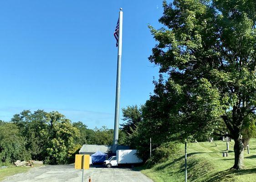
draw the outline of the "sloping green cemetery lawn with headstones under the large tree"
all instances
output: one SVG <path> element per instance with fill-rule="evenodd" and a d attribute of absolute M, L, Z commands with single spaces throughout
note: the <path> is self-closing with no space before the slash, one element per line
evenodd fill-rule
<path fill-rule="evenodd" d="M 189 143 L 188 181 L 256 182 L 256 139 L 251 139 L 249 145 L 250 154 L 247 154 L 247 150 L 244 152 L 245 169 L 236 171 L 230 170 L 234 165 L 233 141 L 230 142 L 228 157 L 222 157 L 222 152 L 226 152 L 226 142 Z M 141 172 L 155 182 L 184 182 L 184 145 L 167 162 Z"/>

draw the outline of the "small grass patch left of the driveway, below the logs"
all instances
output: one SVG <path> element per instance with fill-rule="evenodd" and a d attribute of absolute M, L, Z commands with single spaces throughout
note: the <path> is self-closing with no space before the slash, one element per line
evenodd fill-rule
<path fill-rule="evenodd" d="M 0 181 L 2 181 L 5 177 L 12 176 L 21 172 L 27 172 L 31 169 L 31 167 L 15 167 L 12 164 L 3 164 L 3 166 L 4 165 L 7 166 L 7 168 L 0 169 Z"/>

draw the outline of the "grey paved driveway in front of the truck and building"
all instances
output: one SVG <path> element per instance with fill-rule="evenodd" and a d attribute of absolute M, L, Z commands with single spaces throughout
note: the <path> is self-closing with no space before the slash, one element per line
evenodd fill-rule
<path fill-rule="evenodd" d="M 153 182 L 141 172 L 129 168 L 91 167 L 84 170 L 84 182 Z M 74 165 L 49 165 L 32 168 L 29 172 L 15 174 L 3 182 L 82 182 L 82 170 Z"/>

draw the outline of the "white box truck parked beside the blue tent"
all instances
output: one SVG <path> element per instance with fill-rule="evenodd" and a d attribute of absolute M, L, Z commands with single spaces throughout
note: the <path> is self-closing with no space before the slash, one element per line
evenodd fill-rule
<path fill-rule="evenodd" d="M 143 161 L 137 157 L 136 153 L 137 150 L 117 150 L 117 155 L 104 161 L 104 165 L 110 168 L 122 164 L 130 164 L 133 166 L 133 164 L 142 163 Z"/>

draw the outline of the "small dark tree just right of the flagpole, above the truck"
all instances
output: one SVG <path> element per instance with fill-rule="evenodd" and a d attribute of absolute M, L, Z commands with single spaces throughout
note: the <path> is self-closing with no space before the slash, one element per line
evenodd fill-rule
<path fill-rule="evenodd" d="M 127 106 L 126 108 L 122 108 L 123 112 L 123 121 L 125 121 L 123 124 L 120 124 L 122 126 L 122 130 L 125 133 L 131 134 L 131 130 L 135 129 L 135 126 L 138 125 L 140 121 L 142 121 L 142 108 L 138 108 L 137 105 L 135 106 Z"/>

